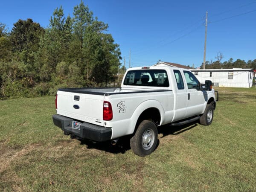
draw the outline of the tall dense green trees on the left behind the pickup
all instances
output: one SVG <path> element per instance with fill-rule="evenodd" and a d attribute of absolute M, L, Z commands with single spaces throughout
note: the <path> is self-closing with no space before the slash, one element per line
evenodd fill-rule
<path fill-rule="evenodd" d="M 83 2 L 73 17 L 56 8 L 47 28 L 30 18 L 10 32 L 0 23 L 0 97 L 54 95 L 60 87 L 115 81 L 122 58 L 107 29 Z"/>

